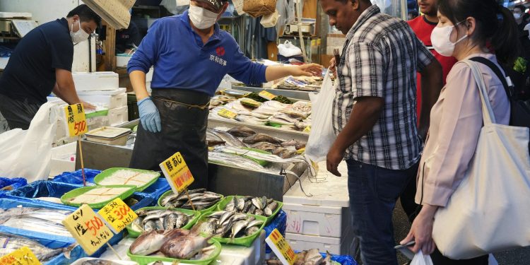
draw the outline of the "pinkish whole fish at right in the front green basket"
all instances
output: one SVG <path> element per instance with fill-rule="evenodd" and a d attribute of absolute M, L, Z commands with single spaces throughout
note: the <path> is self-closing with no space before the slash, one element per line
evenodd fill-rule
<path fill-rule="evenodd" d="M 160 247 L 160 252 L 170 258 L 192 259 L 192 257 L 201 252 L 201 249 L 208 246 L 210 238 L 201 237 L 200 235 L 172 237 Z"/>

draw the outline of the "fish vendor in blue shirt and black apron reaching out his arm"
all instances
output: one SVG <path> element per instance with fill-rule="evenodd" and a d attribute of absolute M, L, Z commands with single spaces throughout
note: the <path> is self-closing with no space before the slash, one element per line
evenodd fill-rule
<path fill-rule="evenodd" d="M 160 170 L 159 164 L 180 152 L 194 176 L 191 188 L 208 187 L 206 127 L 208 105 L 228 73 L 259 85 L 285 76 L 320 76 L 322 66 L 264 66 L 245 57 L 217 20 L 227 0 L 192 0 L 182 15 L 151 25 L 127 66 L 138 100 L 141 125 L 132 168 Z M 154 66 L 152 93 L 146 73 Z"/>

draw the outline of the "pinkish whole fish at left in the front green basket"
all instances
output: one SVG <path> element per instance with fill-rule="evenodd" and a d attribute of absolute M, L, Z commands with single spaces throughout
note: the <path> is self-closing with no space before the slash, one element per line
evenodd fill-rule
<path fill-rule="evenodd" d="M 174 229 L 169 231 L 164 230 L 153 230 L 151 232 L 146 232 L 140 235 L 134 242 L 129 251 L 131 254 L 146 256 L 148 254 L 153 254 L 160 250 L 160 247 L 172 237 L 180 235 L 188 235 L 188 230 Z"/>

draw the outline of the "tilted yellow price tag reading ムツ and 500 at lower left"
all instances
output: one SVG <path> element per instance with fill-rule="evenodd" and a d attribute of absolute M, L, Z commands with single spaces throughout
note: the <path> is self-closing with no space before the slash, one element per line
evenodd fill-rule
<path fill-rule="evenodd" d="M 113 236 L 112 231 L 87 204 L 77 208 L 62 223 L 88 255 L 94 254 Z"/>

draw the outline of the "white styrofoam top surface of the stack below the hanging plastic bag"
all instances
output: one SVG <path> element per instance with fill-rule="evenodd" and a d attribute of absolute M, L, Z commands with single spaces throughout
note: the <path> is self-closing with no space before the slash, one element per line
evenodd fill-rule
<path fill-rule="evenodd" d="M 306 196 L 300 185 L 294 184 L 288 192 L 283 194 L 283 204 L 302 204 L 313 206 L 349 207 L 348 198 L 348 168 L 343 161 L 338 165 L 338 171 L 342 177 L 336 177 L 326 170 L 326 162 L 319 163 L 318 179 L 308 179 L 302 177 L 302 187 L 305 193 L 313 196 Z"/>

